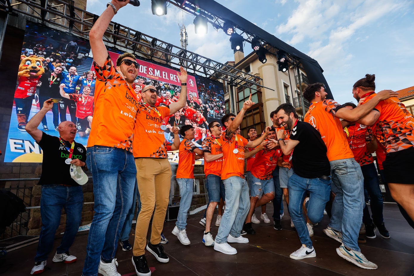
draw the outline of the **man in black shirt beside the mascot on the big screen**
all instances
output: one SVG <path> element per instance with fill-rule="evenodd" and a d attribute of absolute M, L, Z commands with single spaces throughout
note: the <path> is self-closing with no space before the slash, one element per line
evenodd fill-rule
<path fill-rule="evenodd" d="M 39 102 L 43 103 L 47 99 L 50 98 L 60 98 L 59 94 L 59 84 L 62 80 L 62 71 L 63 67 L 58 65 L 55 67 L 53 72 L 47 71 L 45 72 L 39 79 L 42 83 L 39 89 Z M 53 113 L 53 125 L 55 126 L 55 130 L 58 130 L 59 125 L 59 106 L 57 104 L 52 106 L 52 113 Z M 48 131 L 48 121 L 46 120 L 46 116 L 42 119 L 43 130 Z"/>

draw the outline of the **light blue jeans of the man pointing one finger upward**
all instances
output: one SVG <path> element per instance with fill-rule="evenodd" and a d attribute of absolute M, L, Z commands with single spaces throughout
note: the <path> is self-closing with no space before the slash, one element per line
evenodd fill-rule
<path fill-rule="evenodd" d="M 250 209 L 249 187 L 245 179 L 231 176 L 223 180 L 226 189 L 226 209 L 221 217 L 215 242 L 226 243 L 227 237 L 240 236 L 244 220 Z"/>

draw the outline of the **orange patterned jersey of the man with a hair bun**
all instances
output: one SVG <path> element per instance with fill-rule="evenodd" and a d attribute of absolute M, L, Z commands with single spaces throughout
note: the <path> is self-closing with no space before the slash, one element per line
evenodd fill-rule
<path fill-rule="evenodd" d="M 373 93 L 359 100 L 358 105 L 368 102 Z M 380 101 L 374 108 L 380 118 L 374 123 L 373 132 L 387 153 L 402 151 L 414 146 L 414 118 L 397 98 Z"/>

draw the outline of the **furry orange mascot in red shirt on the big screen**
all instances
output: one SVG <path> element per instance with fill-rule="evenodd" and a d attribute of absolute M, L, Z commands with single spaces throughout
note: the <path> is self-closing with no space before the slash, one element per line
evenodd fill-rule
<path fill-rule="evenodd" d="M 26 131 L 29 121 L 31 103 L 36 93 L 36 86 L 40 76 L 45 72 L 42 57 L 29 55 L 20 57 L 19 73 L 17 74 L 17 88 L 14 92 L 14 103 L 16 103 L 17 129 Z"/>

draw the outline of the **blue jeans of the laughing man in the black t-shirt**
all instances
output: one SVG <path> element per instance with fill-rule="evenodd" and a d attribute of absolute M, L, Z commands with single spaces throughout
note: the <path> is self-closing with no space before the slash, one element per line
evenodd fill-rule
<path fill-rule="evenodd" d="M 313 223 L 320 222 L 323 218 L 323 209 L 329 200 L 331 192 L 331 180 L 322 178 L 303 178 L 294 173 L 288 182 L 289 189 L 289 214 L 298 231 L 301 243 L 307 247 L 312 246 L 306 227 L 305 218 L 302 214 L 302 204 L 306 191 L 309 191 L 308 218 Z"/>

